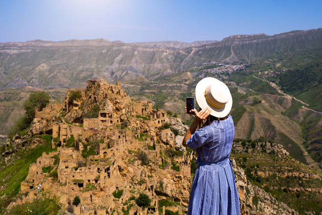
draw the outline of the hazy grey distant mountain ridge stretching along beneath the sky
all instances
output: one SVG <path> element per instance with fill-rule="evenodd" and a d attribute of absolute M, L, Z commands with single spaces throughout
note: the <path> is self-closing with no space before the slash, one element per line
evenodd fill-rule
<path fill-rule="evenodd" d="M 209 61 L 258 60 L 321 47 L 322 29 L 273 36 L 237 35 L 222 41 L 143 42 L 33 40 L 0 44 L 0 88 L 71 87 L 89 78 L 154 80 Z M 185 46 L 189 48 L 178 49 Z M 198 46 L 196 46 L 198 45 Z"/>

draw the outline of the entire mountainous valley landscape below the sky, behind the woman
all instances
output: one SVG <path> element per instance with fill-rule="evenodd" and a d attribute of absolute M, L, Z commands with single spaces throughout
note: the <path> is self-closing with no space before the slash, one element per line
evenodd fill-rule
<path fill-rule="evenodd" d="M 195 97 L 199 80 L 215 77 L 227 84 L 233 96 L 235 140 L 231 161 L 244 214 L 267 212 L 266 204 L 274 213 L 318 214 L 322 201 L 321 40 L 322 29 L 312 29 L 192 43 L 125 44 L 96 39 L 0 44 L 1 210 L 14 201 L 23 203 L 25 195 L 35 198 L 34 181 L 41 181 L 61 190 L 64 207 L 69 204 L 66 190 L 71 189 L 74 194 L 83 193 L 80 196 L 91 212 L 112 213 L 119 208 L 120 213 L 128 214 L 124 212 L 127 210 L 134 214 L 134 210 L 141 210 L 134 199 L 144 191 L 153 197 L 151 213 L 157 210 L 161 214 L 163 205 L 169 203 L 167 210 L 184 214 L 196 159 L 192 151 L 179 147 L 193 120 L 184 113 L 186 97 Z M 75 89 L 83 92 L 82 96 L 69 101 Z M 51 97 L 48 116 L 41 115 L 7 140 L 8 131 L 25 113 L 24 102 L 38 91 Z M 148 105 L 149 113 L 134 111 L 139 104 L 145 109 Z M 195 107 L 199 109 L 196 102 Z M 104 121 L 101 117 L 111 108 L 113 125 L 95 121 Z M 99 113 L 103 115 L 96 115 Z M 157 121 L 153 120 L 160 116 L 161 124 L 154 125 Z M 92 117 L 93 122 L 88 122 Z M 165 125 L 165 121 L 171 125 Z M 59 131 L 70 133 L 57 136 L 57 124 Z M 134 149 L 123 144 L 126 140 L 119 140 L 123 134 L 138 143 Z M 116 137 L 121 149 L 113 154 L 117 145 L 112 140 Z M 95 151 L 98 146 L 101 153 Z M 147 153 L 151 166 L 142 165 L 139 148 Z M 47 164 L 33 164 L 39 159 L 54 162 L 55 156 L 60 156 L 61 163 L 52 166 L 51 175 L 43 170 Z M 81 181 L 65 174 L 71 168 L 71 173 L 79 173 L 81 163 L 86 168 L 105 169 L 117 157 L 110 167 L 113 174 L 117 173 L 113 182 L 98 170 L 99 174 L 89 178 L 78 174 L 77 180 L 85 182 L 80 187 Z M 41 171 L 41 180 L 29 165 Z M 183 180 L 180 177 L 185 180 L 183 187 L 178 183 Z M 116 186 L 116 181 L 121 185 Z M 49 187 L 46 189 L 51 192 Z M 121 199 L 112 194 L 120 187 L 124 189 Z M 95 202 L 102 193 L 108 193 L 104 207 Z"/>

